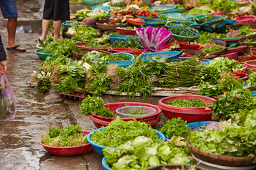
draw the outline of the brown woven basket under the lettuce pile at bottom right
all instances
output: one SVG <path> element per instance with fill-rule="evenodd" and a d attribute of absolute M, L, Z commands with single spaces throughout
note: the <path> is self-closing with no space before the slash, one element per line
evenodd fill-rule
<path fill-rule="evenodd" d="M 218 164 L 222 166 L 248 166 L 253 164 L 253 157 L 228 157 L 220 154 L 212 154 L 202 151 L 192 145 L 187 140 L 187 146 L 191 154 L 195 155 L 198 159 L 204 162 L 209 162 L 212 164 Z"/>

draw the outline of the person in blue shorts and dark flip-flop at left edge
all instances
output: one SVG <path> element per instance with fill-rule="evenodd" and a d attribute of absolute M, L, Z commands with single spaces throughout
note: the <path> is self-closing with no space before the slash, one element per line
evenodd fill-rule
<path fill-rule="evenodd" d="M 15 33 L 17 28 L 17 8 L 14 0 L 0 0 L 1 12 L 4 18 L 8 18 L 7 21 L 7 32 L 8 32 L 8 45 L 7 50 L 16 50 L 26 52 L 24 47 L 16 44 Z"/>

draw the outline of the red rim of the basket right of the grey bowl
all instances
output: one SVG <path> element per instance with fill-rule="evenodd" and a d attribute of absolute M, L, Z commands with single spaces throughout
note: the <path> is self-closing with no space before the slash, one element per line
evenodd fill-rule
<path fill-rule="evenodd" d="M 177 107 L 177 106 L 171 106 L 171 105 L 168 105 L 168 104 L 165 104 L 163 101 L 169 99 L 169 98 L 176 98 L 178 99 L 177 97 L 179 96 L 188 96 L 189 98 L 190 97 L 201 97 L 201 98 L 206 98 L 206 99 L 209 99 L 210 101 L 215 101 L 214 98 L 210 98 L 210 97 L 207 97 L 207 96 L 200 96 L 200 95 L 193 95 L 193 94 L 188 94 L 188 95 L 177 95 L 177 96 L 168 96 L 168 97 L 165 97 L 165 98 L 161 98 L 161 100 L 159 101 L 159 108 L 163 109 L 164 107 L 167 107 L 169 109 L 171 108 L 177 108 L 177 109 L 184 109 L 185 107 Z M 171 106 L 171 107 L 170 107 Z M 186 110 L 188 111 L 193 111 L 193 110 L 198 110 L 198 109 L 205 109 L 205 108 L 211 108 L 213 107 L 213 105 L 210 105 L 210 106 L 206 106 L 206 107 L 200 107 L 200 108 L 185 108 Z M 163 109 L 164 110 L 164 109 Z M 210 111 L 210 110 L 209 110 Z"/>

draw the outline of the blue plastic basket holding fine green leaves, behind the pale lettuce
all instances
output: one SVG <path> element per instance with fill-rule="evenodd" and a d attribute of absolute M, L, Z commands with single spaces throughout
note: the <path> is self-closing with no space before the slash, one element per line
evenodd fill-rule
<path fill-rule="evenodd" d="M 100 129 L 97 129 L 97 130 L 103 130 L 103 129 L 105 129 L 105 128 L 100 128 Z M 97 130 L 93 130 L 92 132 L 96 133 Z M 159 138 L 161 138 L 161 140 L 163 140 L 163 141 L 166 140 L 166 137 L 165 137 L 165 135 L 162 132 L 159 132 L 158 130 L 154 130 L 154 131 L 157 132 L 157 135 L 159 136 Z M 102 149 L 107 148 L 107 147 L 102 146 L 102 145 L 97 145 L 95 142 L 92 142 L 92 140 L 90 140 L 90 137 L 92 136 L 92 132 L 90 132 L 87 135 L 87 141 L 92 145 L 92 147 L 95 149 L 96 152 L 98 152 L 99 154 L 103 155 Z M 109 147 L 109 148 L 114 149 L 114 147 Z"/>

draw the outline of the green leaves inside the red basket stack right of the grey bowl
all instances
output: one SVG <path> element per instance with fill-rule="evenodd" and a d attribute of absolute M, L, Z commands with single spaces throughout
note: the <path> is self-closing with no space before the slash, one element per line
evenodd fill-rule
<path fill-rule="evenodd" d="M 211 105 L 212 103 L 203 103 L 200 99 L 189 98 L 188 100 L 175 99 L 167 102 L 171 106 L 183 108 L 201 108 Z"/>

